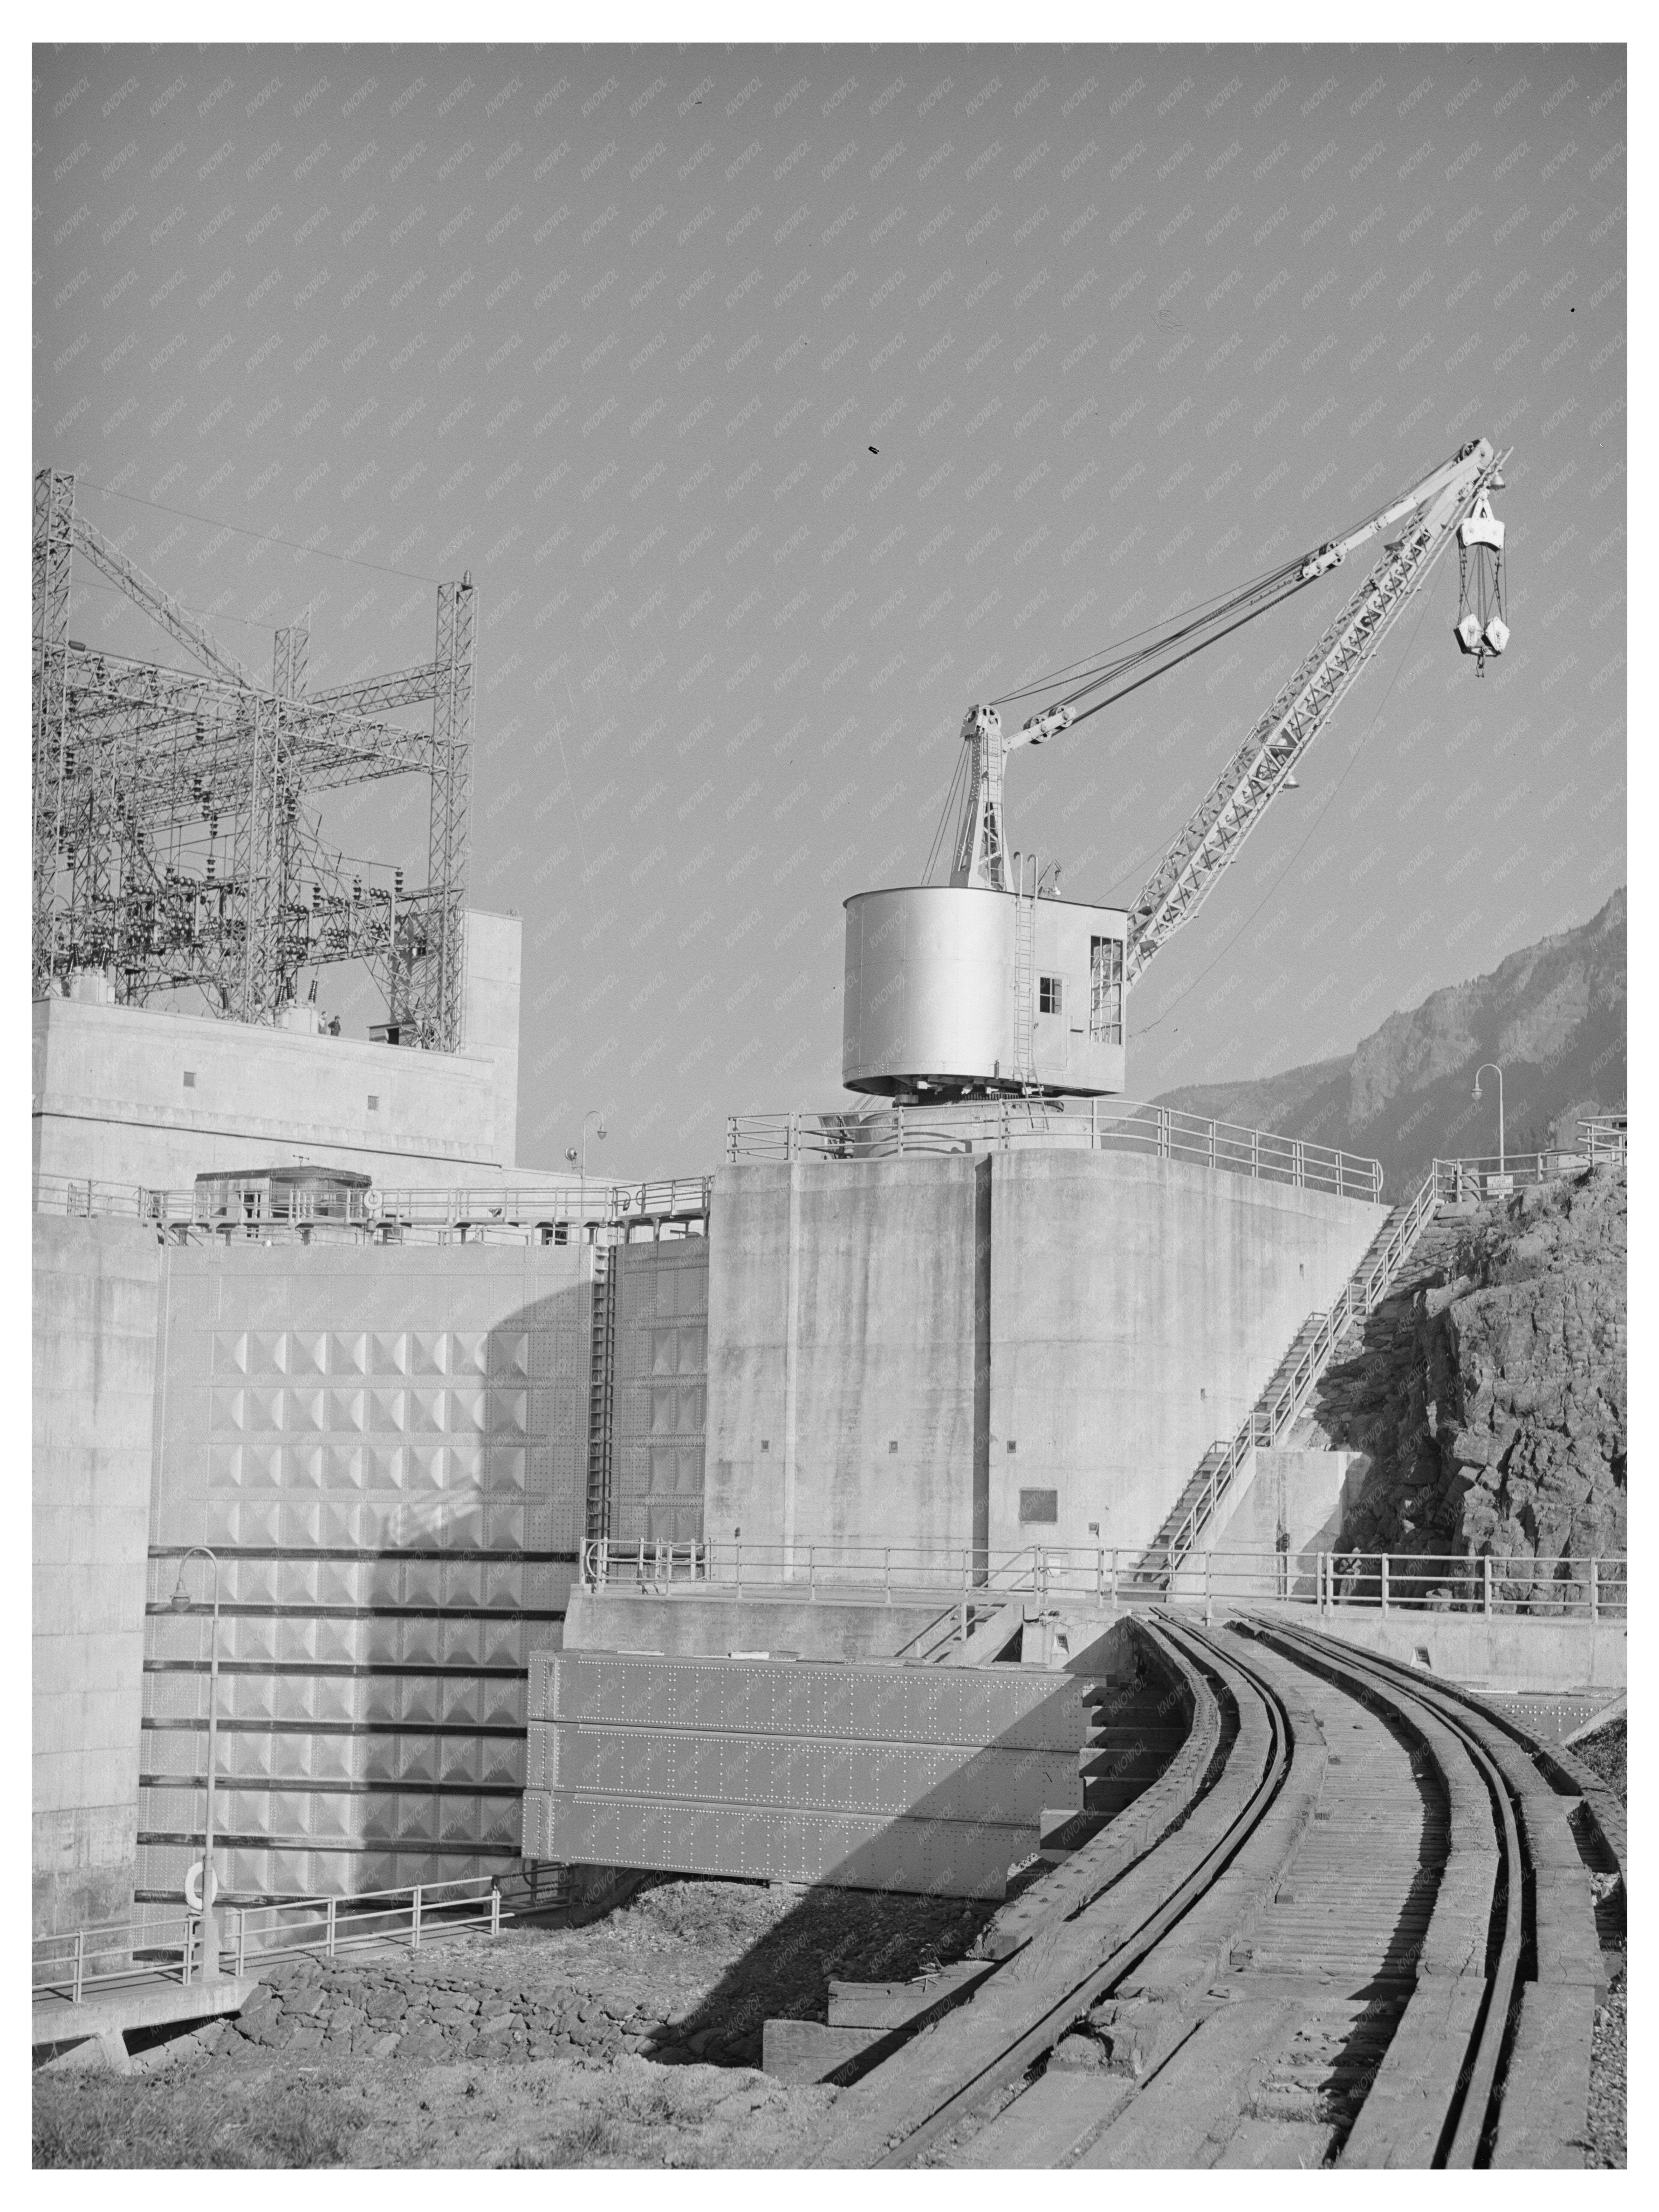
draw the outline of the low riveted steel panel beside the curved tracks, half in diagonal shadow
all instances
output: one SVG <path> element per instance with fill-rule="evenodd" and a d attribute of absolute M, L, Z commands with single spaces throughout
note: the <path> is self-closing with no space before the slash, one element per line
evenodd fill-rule
<path fill-rule="evenodd" d="M 1086 1712 L 1066 1674 L 538 1652 L 529 1734 L 529 1856 L 982 1898 L 1082 1805 Z"/>

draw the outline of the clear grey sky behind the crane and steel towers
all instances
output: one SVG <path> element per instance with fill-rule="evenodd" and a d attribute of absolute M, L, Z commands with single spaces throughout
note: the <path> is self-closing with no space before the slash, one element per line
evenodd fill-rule
<path fill-rule="evenodd" d="M 1458 653 L 1451 555 L 1133 995 L 1133 1097 L 1267 1073 L 1626 878 L 1624 82 L 1621 46 L 35 46 L 33 467 L 261 672 L 307 611 L 316 686 L 427 659 L 471 573 L 520 1161 L 597 1108 L 604 1172 L 670 1175 L 845 1102 L 841 900 L 922 878 L 969 706 L 1513 447 L 1506 655 Z M 1015 754 L 1011 843 L 1128 900 L 1356 582 Z M 71 630 L 179 659 L 86 568 Z M 325 827 L 418 883 L 411 801 Z"/>

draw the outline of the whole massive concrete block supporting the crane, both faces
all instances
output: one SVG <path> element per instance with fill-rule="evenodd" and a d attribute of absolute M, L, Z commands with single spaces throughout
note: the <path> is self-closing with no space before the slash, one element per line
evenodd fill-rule
<path fill-rule="evenodd" d="M 706 1533 L 1141 1546 L 1383 1219 L 1130 1152 L 723 1168 Z"/>

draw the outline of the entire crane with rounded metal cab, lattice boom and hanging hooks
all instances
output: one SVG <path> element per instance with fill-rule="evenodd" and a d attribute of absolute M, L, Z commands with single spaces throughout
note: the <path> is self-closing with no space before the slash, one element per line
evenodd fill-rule
<path fill-rule="evenodd" d="M 1491 507 L 1504 460 L 1491 440 L 1475 438 L 1343 535 L 1152 624 L 1113 653 L 971 706 L 925 880 L 858 891 L 845 902 L 847 1088 L 898 1099 L 1121 1093 L 1128 989 L 1199 911 L 1272 799 L 1294 785 L 1307 748 L 1453 540 L 1460 653 L 1482 675 L 1509 644 L 1504 524 Z M 1009 754 L 1115 706 L 1376 542 L 1376 564 L 1256 717 L 1126 909 L 1062 900 L 1057 869 L 1037 869 L 1033 854 L 1009 854 Z M 1060 699 L 1004 730 L 1002 706 L 1055 688 Z M 933 885 L 958 792 L 949 878 Z"/>

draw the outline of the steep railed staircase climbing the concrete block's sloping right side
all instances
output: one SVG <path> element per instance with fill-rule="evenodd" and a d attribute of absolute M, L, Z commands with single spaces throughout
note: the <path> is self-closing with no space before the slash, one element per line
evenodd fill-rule
<path fill-rule="evenodd" d="M 1365 1316 L 1389 1296 L 1433 1221 L 1440 1203 L 1436 1181 L 1438 1172 L 1431 1168 L 1416 1197 L 1389 1212 L 1336 1305 L 1327 1314 L 1307 1316 L 1237 1436 L 1217 1438 L 1203 1453 L 1157 1537 L 1135 1562 L 1130 1579 L 1168 1588 L 1181 1559 L 1197 1548 L 1217 1506 L 1232 1491 L 1250 1453 L 1276 1444 L 1301 1418 L 1332 1360 L 1343 1349 L 1354 1349 Z"/>

